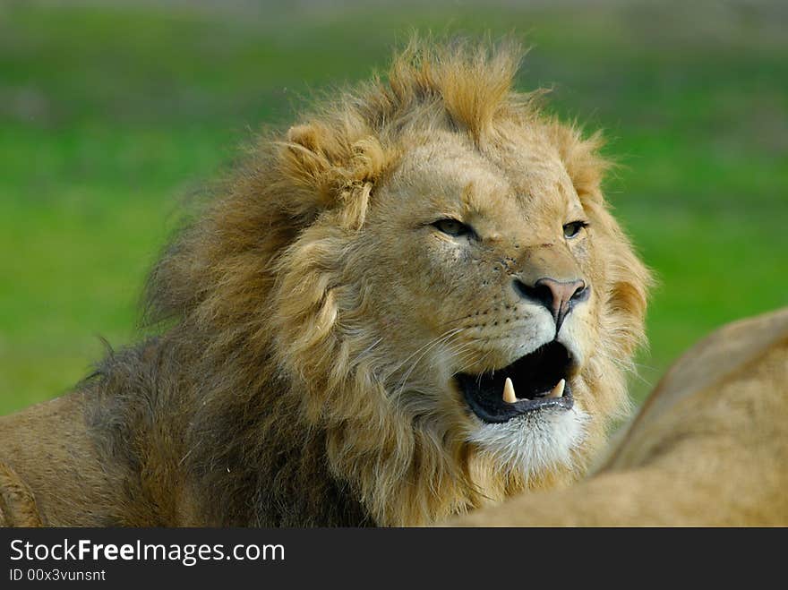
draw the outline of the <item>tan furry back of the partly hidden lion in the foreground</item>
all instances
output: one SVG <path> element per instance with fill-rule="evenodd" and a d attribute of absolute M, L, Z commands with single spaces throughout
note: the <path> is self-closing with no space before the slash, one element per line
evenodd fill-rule
<path fill-rule="evenodd" d="M 455 526 L 788 526 L 788 308 L 672 366 L 593 475 Z"/>

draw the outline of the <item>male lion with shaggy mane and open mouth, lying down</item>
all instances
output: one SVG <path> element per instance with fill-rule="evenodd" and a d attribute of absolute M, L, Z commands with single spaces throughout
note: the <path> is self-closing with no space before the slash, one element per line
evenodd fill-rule
<path fill-rule="evenodd" d="M 584 475 L 649 271 L 520 58 L 416 40 L 264 134 L 152 270 L 158 336 L 0 421 L 41 522 L 424 526 Z"/>

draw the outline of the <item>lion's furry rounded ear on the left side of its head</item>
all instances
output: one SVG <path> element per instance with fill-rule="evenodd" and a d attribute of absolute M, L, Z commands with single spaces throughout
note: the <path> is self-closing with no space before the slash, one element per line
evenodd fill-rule
<path fill-rule="evenodd" d="M 287 131 L 280 165 L 300 198 L 319 209 L 338 209 L 341 220 L 359 227 L 373 185 L 390 158 L 368 129 L 346 124 L 332 129 L 301 124 Z M 304 203 L 307 204 L 307 203 Z"/>

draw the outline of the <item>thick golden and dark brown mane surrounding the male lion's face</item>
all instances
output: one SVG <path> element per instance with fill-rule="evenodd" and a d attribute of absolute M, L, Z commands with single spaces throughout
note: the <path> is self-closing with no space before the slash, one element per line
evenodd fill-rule
<path fill-rule="evenodd" d="M 514 90 L 519 59 L 512 44 L 414 41 L 385 79 L 261 138 L 150 276 L 146 319 L 167 330 L 107 357 L 81 388 L 91 436 L 124 482 L 112 522 L 427 525 L 585 471 L 626 406 L 649 278 L 602 196 L 600 139 Z M 580 376 L 588 418 L 565 429 L 558 457 L 524 471 L 507 468 L 517 452 L 501 463 L 458 434 L 467 415 L 435 399 L 429 367 L 403 375 L 410 357 L 381 335 L 389 320 L 370 320 L 381 278 L 364 228 L 377 193 L 443 136 L 489 161 L 512 138 L 535 138 L 598 229 L 598 338 Z"/>

